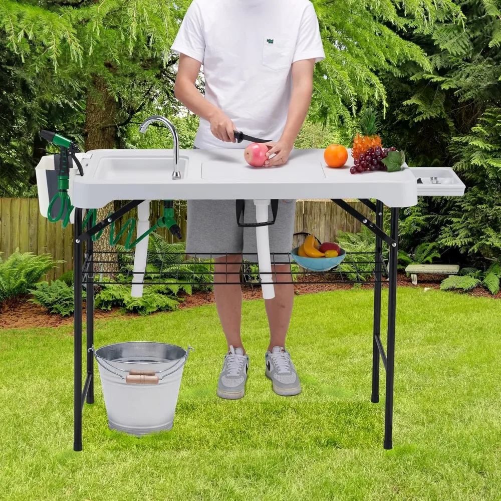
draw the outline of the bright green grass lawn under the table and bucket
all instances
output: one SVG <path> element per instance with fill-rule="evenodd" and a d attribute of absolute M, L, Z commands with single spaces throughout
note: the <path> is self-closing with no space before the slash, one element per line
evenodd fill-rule
<path fill-rule="evenodd" d="M 173 430 L 142 439 L 108 429 L 97 376 L 83 452 L 72 450 L 73 329 L 0 330 L 0 499 L 501 499 L 500 302 L 399 289 L 392 451 L 384 379 L 370 403 L 372 291 L 296 298 L 288 348 L 303 393 L 292 398 L 264 375 L 263 302 L 243 312 L 240 401 L 215 395 L 225 342 L 213 306 L 96 322 L 96 347 L 196 352 Z"/>

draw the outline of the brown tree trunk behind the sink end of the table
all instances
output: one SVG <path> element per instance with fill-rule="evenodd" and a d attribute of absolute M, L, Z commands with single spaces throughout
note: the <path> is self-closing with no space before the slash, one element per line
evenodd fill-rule
<path fill-rule="evenodd" d="M 100 76 L 94 76 L 93 87 L 87 93 L 87 103 L 85 111 L 85 150 L 111 149 L 115 147 L 116 123 L 115 112 L 116 103 L 113 96 L 110 95 L 105 80 Z M 110 212 L 114 211 L 113 202 L 105 207 L 98 209 L 97 220 L 101 221 Z M 116 254 L 112 253 L 109 245 L 110 227 L 103 231 L 101 237 L 94 242 L 94 250 L 102 252 L 96 256 L 98 261 L 111 262 L 103 268 L 101 266 L 96 272 L 106 272 L 107 277 L 110 273 L 115 273 L 118 269 L 116 265 Z"/>

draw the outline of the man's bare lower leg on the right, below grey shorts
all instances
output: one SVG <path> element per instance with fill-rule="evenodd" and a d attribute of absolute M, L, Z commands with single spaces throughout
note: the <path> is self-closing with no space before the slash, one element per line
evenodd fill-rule
<path fill-rule="evenodd" d="M 268 324 L 270 325 L 270 346 L 285 347 L 285 338 L 291 322 L 294 305 L 294 284 L 292 282 L 291 266 L 277 265 L 272 268 L 275 281 L 275 297 L 265 301 Z M 285 283 L 284 283 L 285 282 Z"/>

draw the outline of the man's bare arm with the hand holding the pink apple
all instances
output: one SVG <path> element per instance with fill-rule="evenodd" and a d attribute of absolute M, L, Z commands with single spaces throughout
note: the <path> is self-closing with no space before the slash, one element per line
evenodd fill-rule
<path fill-rule="evenodd" d="M 281 138 L 276 143 L 268 143 L 273 147 L 267 156 L 276 155 L 267 160 L 265 165 L 273 167 L 287 162 L 294 146 L 294 141 L 305 121 L 313 93 L 313 68 L 315 59 L 296 61 L 292 65 L 292 94 L 287 114 L 287 122 Z"/>

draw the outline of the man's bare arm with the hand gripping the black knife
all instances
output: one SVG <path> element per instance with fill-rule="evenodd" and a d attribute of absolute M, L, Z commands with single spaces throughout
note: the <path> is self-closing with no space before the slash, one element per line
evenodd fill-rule
<path fill-rule="evenodd" d="M 188 110 L 210 123 L 210 132 L 215 137 L 221 141 L 234 143 L 233 122 L 219 108 L 210 104 L 195 87 L 200 66 L 200 61 L 185 54 L 179 55 L 174 95 Z"/>

